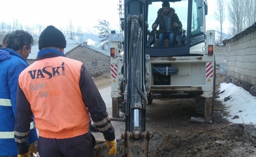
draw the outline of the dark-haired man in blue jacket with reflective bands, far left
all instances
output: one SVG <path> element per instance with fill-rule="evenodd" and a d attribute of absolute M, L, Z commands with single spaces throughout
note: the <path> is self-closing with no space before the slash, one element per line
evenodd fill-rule
<path fill-rule="evenodd" d="M 8 37 L 7 48 L 0 50 L 0 157 L 17 157 L 14 138 L 17 83 L 20 73 L 29 66 L 25 59 L 31 52 L 32 43 L 29 33 L 16 30 Z M 30 129 L 29 151 L 37 153 L 38 136 L 32 117 Z"/>

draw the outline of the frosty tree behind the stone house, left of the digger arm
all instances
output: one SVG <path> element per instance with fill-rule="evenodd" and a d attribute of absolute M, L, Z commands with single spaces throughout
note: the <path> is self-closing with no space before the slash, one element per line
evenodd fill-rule
<path fill-rule="evenodd" d="M 110 42 L 108 41 L 108 38 L 110 36 L 110 25 L 109 22 L 106 20 L 98 20 L 99 24 L 94 26 L 94 28 L 97 28 L 99 30 L 99 38 L 101 38 L 100 42 L 102 42 L 103 47 L 109 47 Z"/>

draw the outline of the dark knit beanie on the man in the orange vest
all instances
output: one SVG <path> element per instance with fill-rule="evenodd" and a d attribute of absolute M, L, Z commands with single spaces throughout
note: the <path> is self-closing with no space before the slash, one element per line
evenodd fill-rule
<path fill-rule="evenodd" d="M 51 46 L 66 48 L 66 38 L 59 29 L 54 26 L 47 26 L 39 37 L 38 49 Z"/>

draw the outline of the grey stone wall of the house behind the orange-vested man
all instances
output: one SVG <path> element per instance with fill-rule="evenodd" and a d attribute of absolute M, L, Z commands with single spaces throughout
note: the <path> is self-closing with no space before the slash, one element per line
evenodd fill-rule
<path fill-rule="evenodd" d="M 98 53 L 88 47 L 77 47 L 66 57 L 83 62 L 91 77 L 98 77 L 105 73 L 110 73 L 110 57 Z M 92 66 L 92 62 L 97 62 L 97 66 Z"/>

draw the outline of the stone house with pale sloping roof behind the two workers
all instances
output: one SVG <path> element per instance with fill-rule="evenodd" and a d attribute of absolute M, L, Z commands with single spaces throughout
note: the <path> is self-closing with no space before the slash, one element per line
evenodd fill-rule
<path fill-rule="evenodd" d="M 91 77 L 98 77 L 105 73 L 110 73 L 109 51 L 88 46 L 86 42 L 81 43 L 67 38 L 66 41 L 67 46 L 64 49 L 66 57 L 83 62 L 90 72 Z M 29 64 L 35 62 L 38 51 L 38 44 L 32 46 L 31 53 L 27 58 Z"/>

